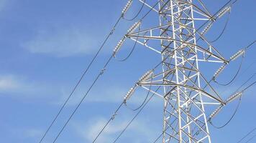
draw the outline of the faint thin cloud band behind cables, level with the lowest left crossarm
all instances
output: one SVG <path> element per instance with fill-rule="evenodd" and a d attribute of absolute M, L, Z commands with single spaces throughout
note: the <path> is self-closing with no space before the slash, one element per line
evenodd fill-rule
<path fill-rule="evenodd" d="M 81 86 L 85 87 L 85 86 Z M 104 87 L 104 89 L 96 90 L 92 89 L 91 92 L 87 95 L 84 102 L 92 102 L 92 103 L 109 103 L 109 104 L 116 104 L 121 103 L 124 100 L 124 96 L 129 91 L 129 88 L 119 87 L 118 85 L 114 87 Z M 68 102 L 68 105 L 76 105 L 78 102 L 81 101 L 82 97 L 84 96 L 86 90 L 82 91 L 81 89 L 78 89 L 78 91 L 73 94 L 73 98 L 70 99 Z M 62 90 L 62 96 L 60 96 L 60 100 L 58 102 L 55 102 L 53 104 L 63 104 L 65 99 L 70 94 L 70 91 L 67 91 L 66 89 Z M 149 94 L 147 99 L 151 97 L 152 93 Z M 140 90 L 137 90 L 134 92 L 132 97 L 129 99 L 127 104 L 132 105 L 132 107 L 137 107 L 137 105 L 142 104 L 142 102 L 145 100 L 145 97 L 147 96 L 147 91 L 145 89 L 140 88 Z M 154 104 L 150 104 L 150 106 L 157 106 L 162 104 L 162 99 L 160 97 L 154 97 L 151 102 L 154 102 Z"/>

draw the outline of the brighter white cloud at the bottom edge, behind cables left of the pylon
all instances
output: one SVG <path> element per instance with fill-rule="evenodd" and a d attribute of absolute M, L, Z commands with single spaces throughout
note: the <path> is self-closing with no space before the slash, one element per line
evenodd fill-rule
<path fill-rule="evenodd" d="M 113 142 L 113 139 L 115 139 L 116 136 L 122 132 L 124 127 L 126 127 L 129 122 L 128 117 L 121 118 L 122 119 L 118 121 L 113 120 L 113 122 L 106 127 L 104 132 L 101 133 L 101 136 L 99 136 L 97 142 Z M 102 127 L 104 127 L 106 122 L 106 119 L 99 117 L 90 119 L 90 121 L 83 126 L 81 126 L 81 123 L 78 123 L 79 125 L 73 125 L 76 132 L 78 132 L 83 139 L 88 142 L 92 142 L 96 135 L 99 134 Z M 152 141 L 156 134 L 155 131 L 149 129 L 148 124 L 150 124 L 150 122 L 147 121 L 147 119 L 144 119 L 143 121 L 140 119 L 134 120 L 134 122 L 132 122 L 132 124 L 130 124 L 130 126 L 127 128 L 125 134 L 123 134 L 123 137 L 134 137 L 129 138 L 129 142 L 140 142 L 140 139 L 143 139 L 144 141 L 148 139 L 147 142 Z M 138 138 L 137 134 L 142 134 L 142 137 Z"/>

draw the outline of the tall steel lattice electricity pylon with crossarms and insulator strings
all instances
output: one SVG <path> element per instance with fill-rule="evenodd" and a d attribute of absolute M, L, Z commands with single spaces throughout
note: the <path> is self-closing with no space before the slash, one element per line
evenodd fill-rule
<path fill-rule="evenodd" d="M 241 55 L 242 52 L 235 54 L 232 59 L 224 59 L 204 36 L 217 19 L 230 11 L 231 6 L 213 15 L 201 0 L 160 0 L 157 9 L 150 4 L 145 5 L 156 12 L 158 19 L 155 21 L 160 21 L 159 25 L 136 31 L 142 25 L 142 21 L 138 21 L 116 46 L 114 54 L 119 51 L 124 40 L 129 38 L 160 54 L 162 59 L 159 65 L 162 67 L 161 71 L 156 68 L 147 71 L 124 100 L 126 102 L 137 87 L 163 98 L 163 143 L 210 143 L 205 106 L 220 105 L 211 114 L 210 117 L 213 117 L 226 102 L 211 87 L 199 70 L 199 65 L 201 62 L 223 64 L 215 72 L 215 80 L 230 60 Z M 153 91 L 151 87 L 163 89 Z"/>

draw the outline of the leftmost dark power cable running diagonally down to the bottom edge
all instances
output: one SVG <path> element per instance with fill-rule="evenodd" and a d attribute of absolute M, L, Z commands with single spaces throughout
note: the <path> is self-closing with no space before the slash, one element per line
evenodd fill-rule
<path fill-rule="evenodd" d="M 47 132 L 49 132 L 50 128 L 52 127 L 52 125 L 55 123 L 56 119 L 58 119 L 60 113 L 63 111 L 64 107 L 66 106 L 66 104 L 68 103 L 70 97 L 72 97 L 73 93 L 76 91 L 78 85 L 81 83 L 82 79 L 85 77 L 85 74 L 87 73 L 88 69 L 90 69 L 91 65 L 93 64 L 93 61 L 95 61 L 96 57 L 99 55 L 101 49 L 103 49 L 104 45 L 106 44 L 106 41 L 109 39 L 109 37 L 114 33 L 114 30 L 116 29 L 117 24 L 119 24 L 119 21 L 121 20 L 122 16 L 119 17 L 119 19 L 116 21 L 116 24 L 114 24 L 114 27 L 111 29 L 111 32 L 108 34 L 108 36 L 106 36 L 106 39 L 104 40 L 103 44 L 100 46 L 99 50 L 96 52 L 96 54 L 93 56 L 93 59 L 91 60 L 90 64 L 88 64 L 88 66 L 86 67 L 86 70 L 83 71 L 83 74 L 81 76 L 81 78 L 78 80 L 76 86 L 73 88 L 72 92 L 70 93 L 70 95 L 68 96 L 68 98 L 65 100 L 63 106 L 60 108 L 60 110 L 58 111 L 58 113 L 56 114 L 56 116 L 54 117 L 54 119 L 52 120 L 50 126 L 47 128 L 45 134 L 43 134 L 42 138 L 40 139 L 40 142 L 42 142 L 42 140 L 45 138 Z"/>

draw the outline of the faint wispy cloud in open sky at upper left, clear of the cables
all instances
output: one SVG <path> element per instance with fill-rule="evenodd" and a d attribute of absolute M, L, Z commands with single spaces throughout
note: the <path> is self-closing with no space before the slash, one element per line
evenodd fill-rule
<path fill-rule="evenodd" d="M 74 56 L 91 54 L 95 40 L 83 29 L 58 27 L 40 29 L 34 38 L 22 44 L 32 53 L 52 56 Z"/>

